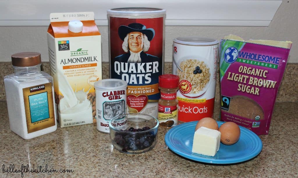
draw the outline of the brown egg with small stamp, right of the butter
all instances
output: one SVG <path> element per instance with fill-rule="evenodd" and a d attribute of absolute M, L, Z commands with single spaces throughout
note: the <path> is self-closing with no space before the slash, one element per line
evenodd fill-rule
<path fill-rule="evenodd" d="M 221 132 L 221 143 L 225 145 L 232 145 L 240 138 L 240 128 L 234 122 L 226 122 L 218 129 Z"/>

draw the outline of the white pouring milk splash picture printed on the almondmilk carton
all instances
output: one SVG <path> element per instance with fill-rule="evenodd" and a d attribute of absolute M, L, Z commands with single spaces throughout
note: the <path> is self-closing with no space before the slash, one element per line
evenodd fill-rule
<path fill-rule="evenodd" d="M 58 71 L 58 78 L 59 91 L 64 97 L 60 99 L 58 104 L 59 118 L 64 121 L 71 121 L 69 124 L 72 125 L 93 123 L 92 105 L 86 97 L 91 88 L 86 92 L 84 92 L 84 88 L 77 91 L 75 85 L 74 91 L 60 70 Z M 82 121 L 82 118 L 84 118 L 84 121 Z M 76 123 L 79 121 L 80 123 Z"/>

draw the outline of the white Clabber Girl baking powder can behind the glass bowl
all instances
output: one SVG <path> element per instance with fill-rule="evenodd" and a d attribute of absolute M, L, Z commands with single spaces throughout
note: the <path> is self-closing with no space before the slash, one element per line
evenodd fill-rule
<path fill-rule="evenodd" d="M 120 79 L 103 79 L 94 83 L 96 92 L 97 130 L 110 133 L 109 122 L 112 118 L 126 113 L 127 82 Z M 127 126 L 123 121 L 117 129 Z"/>

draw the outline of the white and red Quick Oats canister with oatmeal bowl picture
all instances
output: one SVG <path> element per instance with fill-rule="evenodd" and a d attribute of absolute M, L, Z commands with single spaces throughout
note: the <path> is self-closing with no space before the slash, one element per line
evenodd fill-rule
<path fill-rule="evenodd" d="M 179 76 L 178 120 L 213 117 L 218 41 L 179 37 L 173 41 L 173 71 Z"/>

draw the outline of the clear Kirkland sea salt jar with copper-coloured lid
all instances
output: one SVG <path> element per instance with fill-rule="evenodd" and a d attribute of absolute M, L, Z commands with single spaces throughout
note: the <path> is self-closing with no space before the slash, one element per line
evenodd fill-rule
<path fill-rule="evenodd" d="M 4 77 L 10 129 L 24 139 L 57 129 L 53 78 L 41 71 L 41 54 L 11 56 L 14 73 Z"/>

